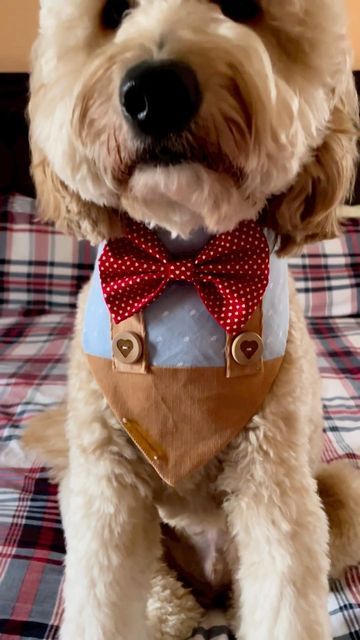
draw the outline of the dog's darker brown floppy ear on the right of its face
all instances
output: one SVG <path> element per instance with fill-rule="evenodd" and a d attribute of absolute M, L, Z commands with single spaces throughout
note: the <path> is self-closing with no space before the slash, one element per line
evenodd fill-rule
<path fill-rule="evenodd" d="M 264 223 L 278 236 L 279 254 L 339 232 L 338 207 L 351 194 L 357 165 L 359 106 L 351 77 L 335 102 L 325 138 L 286 193 L 273 197 Z"/>

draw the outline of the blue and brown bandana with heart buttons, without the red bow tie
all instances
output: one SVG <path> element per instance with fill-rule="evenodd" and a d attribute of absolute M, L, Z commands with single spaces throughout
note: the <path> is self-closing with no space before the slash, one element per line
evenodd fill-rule
<path fill-rule="evenodd" d="M 186 245 L 161 239 L 177 255 L 198 249 L 208 236 L 199 231 Z M 275 256 L 262 304 L 234 338 L 236 353 L 234 340 L 188 284 L 171 284 L 141 315 L 115 325 L 96 268 L 83 346 L 115 415 L 161 477 L 175 484 L 223 449 L 260 409 L 287 332 L 287 266 Z"/>

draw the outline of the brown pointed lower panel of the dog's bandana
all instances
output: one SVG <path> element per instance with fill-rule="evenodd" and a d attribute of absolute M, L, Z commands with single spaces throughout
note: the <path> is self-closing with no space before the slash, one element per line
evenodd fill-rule
<path fill-rule="evenodd" d="M 119 375 L 111 360 L 87 357 L 115 416 L 170 485 L 206 464 L 247 425 L 282 362 L 266 361 L 254 375 L 234 378 L 226 378 L 223 367 L 154 367 L 139 376 Z"/>

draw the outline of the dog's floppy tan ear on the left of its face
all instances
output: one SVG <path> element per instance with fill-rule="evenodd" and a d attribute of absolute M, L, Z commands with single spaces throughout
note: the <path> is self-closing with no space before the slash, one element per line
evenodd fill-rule
<path fill-rule="evenodd" d="M 119 212 L 83 200 L 52 169 L 45 154 L 32 144 L 32 175 L 43 220 L 93 244 L 121 235 Z"/>

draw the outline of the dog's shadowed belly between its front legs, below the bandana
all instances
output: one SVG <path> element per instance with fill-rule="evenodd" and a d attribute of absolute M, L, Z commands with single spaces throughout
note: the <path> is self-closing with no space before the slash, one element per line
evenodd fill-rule
<path fill-rule="evenodd" d="M 204 607 L 224 607 L 229 598 L 233 567 L 238 564 L 223 497 L 213 491 L 217 462 L 182 485 L 181 493 L 164 488 L 157 506 L 162 524 L 164 559 Z"/>

